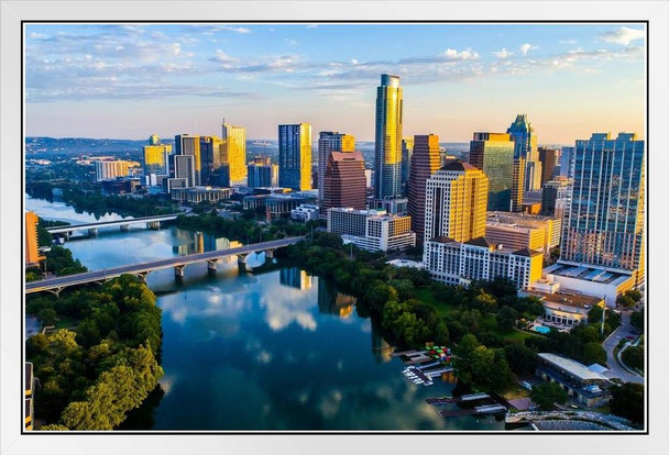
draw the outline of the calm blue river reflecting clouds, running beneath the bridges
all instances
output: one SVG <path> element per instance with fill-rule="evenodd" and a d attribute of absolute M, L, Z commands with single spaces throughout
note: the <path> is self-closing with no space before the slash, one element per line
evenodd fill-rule
<path fill-rule="evenodd" d="M 26 197 L 46 220 L 94 221 L 59 202 Z M 120 217 L 108 214 L 106 220 Z M 100 229 L 65 244 L 89 269 L 221 248 L 174 226 Z M 264 256 L 250 255 L 257 266 Z M 355 312 L 355 299 L 299 268 L 254 275 L 237 262 L 151 273 L 163 310 L 164 396 L 135 430 L 503 430 L 492 417 L 442 418 L 426 398 L 451 395 L 452 377 L 415 385 L 404 364 Z M 454 404 L 450 404 L 457 409 Z"/>

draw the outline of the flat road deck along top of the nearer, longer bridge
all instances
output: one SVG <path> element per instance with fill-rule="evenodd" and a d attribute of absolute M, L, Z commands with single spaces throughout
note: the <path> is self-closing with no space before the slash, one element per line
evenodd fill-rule
<path fill-rule="evenodd" d="M 218 249 L 213 252 L 206 252 L 199 254 L 191 254 L 188 256 L 175 256 L 167 259 L 152 260 L 142 264 L 129 264 L 120 267 L 107 268 L 103 270 L 87 271 L 85 274 L 68 275 L 65 277 L 56 277 L 50 279 L 43 279 L 39 281 L 31 281 L 25 284 L 25 292 L 39 292 L 47 289 L 58 289 L 73 285 L 81 285 L 85 282 L 100 281 L 108 278 L 118 277 L 122 274 L 142 274 L 152 270 L 158 270 L 162 268 L 169 268 L 175 266 L 186 266 L 189 264 L 201 263 L 205 260 L 220 259 L 224 256 L 233 256 L 238 254 L 249 254 L 254 252 L 261 252 L 266 249 L 281 248 L 283 246 L 292 245 L 303 241 L 305 237 L 288 237 L 279 238 L 270 242 L 255 243 L 251 245 L 244 245 L 237 248 Z"/>

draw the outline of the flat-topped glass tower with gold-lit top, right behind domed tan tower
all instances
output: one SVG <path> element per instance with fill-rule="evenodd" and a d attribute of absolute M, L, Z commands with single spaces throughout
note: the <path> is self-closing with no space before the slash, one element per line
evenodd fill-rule
<path fill-rule="evenodd" d="M 487 176 L 487 210 L 512 209 L 515 147 L 511 136 L 503 133 L 474 133 L 470 142 L 469 162 Z"/>

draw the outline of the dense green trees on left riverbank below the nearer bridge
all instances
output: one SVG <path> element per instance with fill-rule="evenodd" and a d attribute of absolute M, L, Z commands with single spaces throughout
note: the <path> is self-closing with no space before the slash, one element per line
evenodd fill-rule
<path fill-rule="evenodd" d="M 163 375 L 155 300 L 130 275 L 100 290 L 29 298 L 29 314 L 52 312 L 78 321 L 74 330 L 40 333 L 26 342 L 26 358 L 41 384 L 36 418 L 48 424 L 45 430 L 111 430 L 155 389 Z"/>

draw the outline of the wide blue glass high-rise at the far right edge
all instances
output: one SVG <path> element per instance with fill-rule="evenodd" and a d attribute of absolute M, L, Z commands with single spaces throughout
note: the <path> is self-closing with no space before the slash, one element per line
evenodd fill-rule
<path fill-rule="evenodd" d="M 635 133 L 577 141 L 561 262 L 627 270 L 643 282 L 644 146 Z"/>

